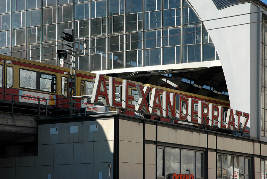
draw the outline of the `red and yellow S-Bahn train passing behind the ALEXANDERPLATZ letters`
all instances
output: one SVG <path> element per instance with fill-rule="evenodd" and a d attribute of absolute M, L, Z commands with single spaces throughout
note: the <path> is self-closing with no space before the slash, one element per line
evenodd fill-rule
<path fill-rule="evenodd" d="M 58 108 L 69 108 L 69 68 L 60 68 L 56 65 L 34 62 L 24 59 L 0 55 L 0 102 L 15 105 L 48 106 L 50 112 Z M 92 95 L 95 73 L 76 70 L 76 111 L 86 109 L 87 112 L 106 112 L 114 109 L 104 106 L 93 105 L 88 102 Z M 108 76 L 105 76 L 108 87 Z M 116 99 L 121 100 L 121 85 L 123 79 L 116 78 Z M 139 82 L 134 82 L 139 83 Z M 184 95 L 186 98 L 196 98 L 208 103 L 214 103 L 224 108 L 230 108 L 229 101 L 209 98 L 164 87 L 144 84 L 152 88 L 158 88 L 160 93 L 168 91 L 177 95 Z M 134 95 L 132 104 L 139 99 L 136 88 L 129 90 Z M 85 95 L 88 95 L 85 97 Z M 227 111 L 227 110 L 226 110 Z M 133 111 L 126 111 L 128 115 L 136 115 Z M 155 116 L 151 116 L 155 119 Z M 158 118 L 157 118 L 158 119 Z M 162 121 L 170 119 L 160 118 Z"/>

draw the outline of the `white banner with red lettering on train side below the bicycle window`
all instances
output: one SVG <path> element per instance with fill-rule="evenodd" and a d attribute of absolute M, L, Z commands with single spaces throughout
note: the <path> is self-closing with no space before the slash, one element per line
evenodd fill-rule
<path fill-rule="evenodd" d="M 23 91 L 20 90 L 20 97 L 19 97 L 19 101 L 20 102 L 25 102 L 25 103 L 34 103 L 34 104 L 38 104 L 38 99 L 37 98 L 42 98 L 40 100 L 40 104 L 45 104 L 46 99 L 47 103 L 49 106 L 53 106 L 55 105 L 55 95 L 48 95 L 48 94 L 42 94 L 42 93 L 36 93 L 36 92 L 31 92 L 31 91 Z"/>

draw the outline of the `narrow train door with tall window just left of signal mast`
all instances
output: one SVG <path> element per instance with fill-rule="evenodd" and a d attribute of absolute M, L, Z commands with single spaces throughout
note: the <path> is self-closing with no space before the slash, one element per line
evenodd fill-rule
<path fill-rule="evenodd" d="M 69 73 L 68 72 L 64 72 L 64 74 L 60 74 L 60 82 L 61 82 L 61 85 L 60 85 L 60 98 L 65 98 L 65 97 L 68 97 L 68 94 L 69 94 L 69 88 L 68 88 L 68 81 L 69 81 Z M 69 100 L 66 98 L 66 99 L 61 99 L 60 100 L 60 104 L 63 104 L 61 105 L 60 107 L 62 108 L 69 108 L 68 106 L 68 103 L 69 103 Z"/>

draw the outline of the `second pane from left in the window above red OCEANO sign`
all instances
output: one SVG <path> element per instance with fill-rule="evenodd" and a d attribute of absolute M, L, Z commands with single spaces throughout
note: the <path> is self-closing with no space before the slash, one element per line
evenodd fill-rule
<path fill-rule="evenodd" d="M 165 148 L 165 175 L 180 173 L 180 150 Z"/>

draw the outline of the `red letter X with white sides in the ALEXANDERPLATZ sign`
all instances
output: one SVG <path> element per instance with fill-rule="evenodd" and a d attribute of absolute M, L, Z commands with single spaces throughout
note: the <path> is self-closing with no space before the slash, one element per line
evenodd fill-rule
<path fill-rule="evenodd" d="M 141 84 L 135 84 L 135 86 L 136 86 L 138 95 L 140 97 L 135 110 L 142 111 L 142 108 L 144 106 L 144 112 L 149 113 L 149 107 L 148 107 L 146 98 L 147 98 L 147 95 L 149 94 L 150 87 L 147 87 L 147 86 L 143 87 L 143 85 Z"/>

